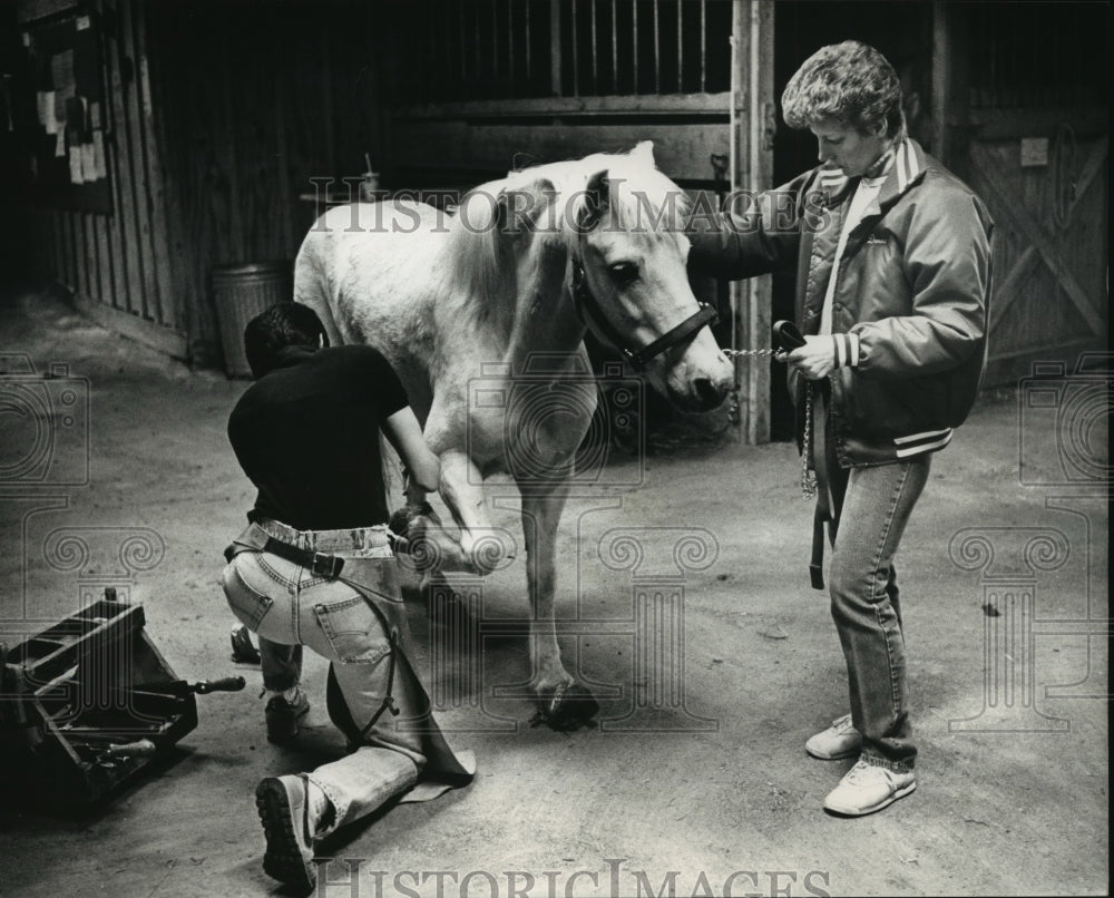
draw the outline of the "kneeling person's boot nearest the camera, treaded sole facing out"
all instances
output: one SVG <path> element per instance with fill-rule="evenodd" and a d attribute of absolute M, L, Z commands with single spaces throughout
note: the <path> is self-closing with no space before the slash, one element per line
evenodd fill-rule
<path fill-rule="evenodd" d="M 304 774 L 267 777 L 255 789 L 255 807 L 267 840 L 264 871 L 280 882 L 313 889 L 313 840 L 331 809 L 325 793 Z"/>

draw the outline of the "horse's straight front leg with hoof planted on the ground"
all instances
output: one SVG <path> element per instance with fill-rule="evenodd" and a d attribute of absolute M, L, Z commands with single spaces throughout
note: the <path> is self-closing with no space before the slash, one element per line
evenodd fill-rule
<path fill-rule="evenodd" d="M 530 592 L 531 686 L 540 719 L 554 730 L 576 730 L 599 710 L 593 694 L 565 670 L 554 623 L 557 594 L 557 525 L 568 481 L 519 484 L 522 492 L 522 534 L 526 540 L 526 577 Z"/>

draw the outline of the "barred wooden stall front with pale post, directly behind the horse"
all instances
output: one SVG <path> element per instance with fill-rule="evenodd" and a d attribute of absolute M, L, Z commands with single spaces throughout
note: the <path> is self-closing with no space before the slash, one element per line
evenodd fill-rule
<path fill-rule="evenodd" d="M 388 188 L 463 189 L 647 139 L 666 175 L 713 204 L 770 184 L 773 0 L 420 0 L 387 11 L 391 148 L 377 166 Z M 722 344 L 768 344 L 766 280 L 694 283 L 720 308 Z M 769 439 L 769 365 L 739 367 L 731 423 L 747 442 Z"/>

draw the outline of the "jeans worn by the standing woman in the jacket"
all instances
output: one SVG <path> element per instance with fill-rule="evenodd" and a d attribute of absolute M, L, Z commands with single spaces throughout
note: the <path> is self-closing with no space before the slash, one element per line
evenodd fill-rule
<path fill-rule="evenodd" d="M 853 468 L 829 570 L 832 618 L 843 646 L 851 720 L 874 764 L 910 770 L 905 637 L 893 556 L 928 480 L 931 456 Z"/>

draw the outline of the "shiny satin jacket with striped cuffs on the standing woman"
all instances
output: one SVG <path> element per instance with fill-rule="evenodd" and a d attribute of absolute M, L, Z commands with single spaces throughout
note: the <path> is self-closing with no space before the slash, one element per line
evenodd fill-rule
<path fill-rule="evenodd" d="M 739 279 L 795 265 L 797 320 L 818 333 L 856 185 L 821 166 L 739 214 L 694 214 L 690 270 Z M 969 187 L 916 141 L 897 145 L 837 273 L 829 439 L 842 467 L 942 449 L 967 418 L 986 364 L 993 227 Z M 804 385 L 790 378 L 799 441 Z"/>

